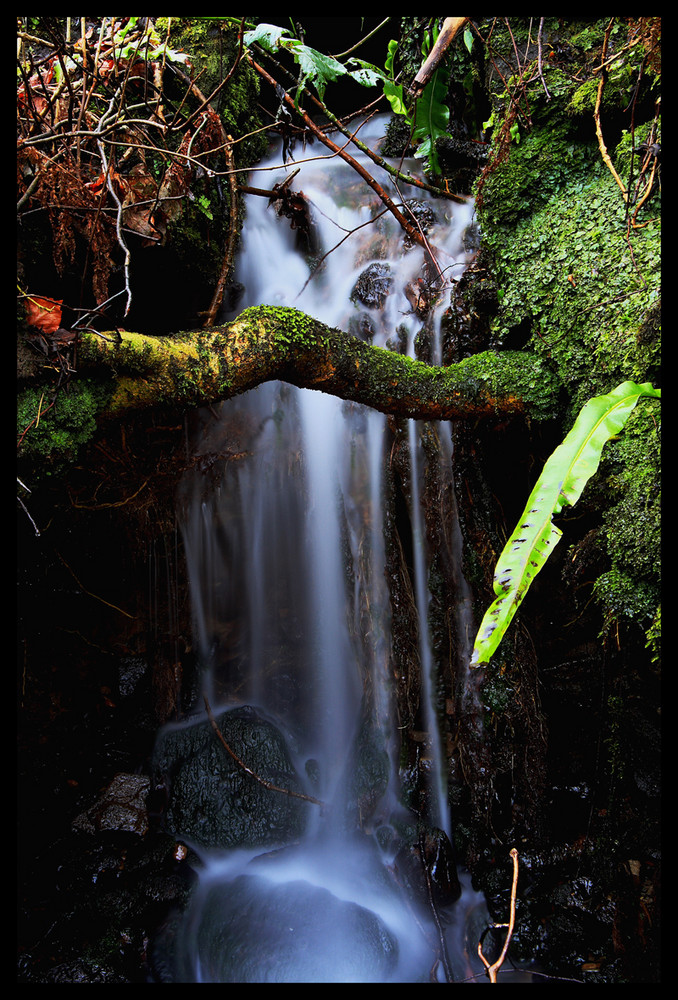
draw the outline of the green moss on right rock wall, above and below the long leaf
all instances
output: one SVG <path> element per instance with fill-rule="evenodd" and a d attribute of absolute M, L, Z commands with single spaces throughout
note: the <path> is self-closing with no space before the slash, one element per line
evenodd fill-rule
<path fill-rule="evenodd" d="M 530 85 L 531 127 L 522 121 L 520 143 L 494 162 L 480 190 L 479 221 L 499 298 L 492 346 L 518 343 L 543 359 L 569 394 L 564 430 L 592 396 L 629 379 L 658 385 L 661 371 L 659 185 L 637 212 L 633 200 L 627 207 L 595 134 L 599 76 L 591 70 L 608 24 L 608 18 L 582 22 L 567 39 L 579 72 L 561 81 L 560 91 L 546 66 L 550 102 L 541 82 Z M 627 41 L 627 25 L 618 19 L 609 52 Z M 649 177 L 648 170 L 638 184 L 638 146 L 661 137 L 661 121 L 650 131 L 652 74 L 634 94 L 643 57 L 638 45 L 611 64 L 602 104 L 612 162 L 635 197 Z M 494 109 L 498 135 L 508 109 L 498 89 Z M 605 620 L 636 619 L 645 629 L 659 602 L 658 421 L 659 407 L 641 402 L 606 447 L 593 501 L 609 559 L 595 584 Z"/>

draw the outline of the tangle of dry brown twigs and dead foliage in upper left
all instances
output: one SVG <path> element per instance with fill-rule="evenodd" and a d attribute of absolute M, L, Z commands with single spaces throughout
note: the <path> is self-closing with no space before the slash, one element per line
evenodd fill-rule
<path fill-rule="evenodd" d="M 17 19 L 19 222 L 46 215 L 57 273 L 83 267 L 99 310 L 125 295 L 127 314 L 130 247 L 162 245 L 187 200 L 229 172 L 219 115 L 170 47 L 171 21 L 161 33 L 142 17 Z"/>

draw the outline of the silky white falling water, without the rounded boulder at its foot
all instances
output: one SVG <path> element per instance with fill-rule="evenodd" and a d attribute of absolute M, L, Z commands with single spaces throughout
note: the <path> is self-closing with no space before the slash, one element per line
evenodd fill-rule
<path fill-rule="evenodd" d="M 379 119 L 365 126 L 363 141 L 376 142 L 384 125 Z M 272 187 L 300 166 L 294 187 L 303 190 L 311 207 L 318 256 L 328 256 L 312 273 L 289 222 L 277 218 L 265 199 L 251 198 L 237 265 L 243 288 L 237 311 L 258 304 L 294 306 L 343 330 L 351 328 L 352 320 L 369 320 L 374 344 L 386 346 L 399 328 L 413 354 L 422 321 L 405 288 L 422 273 L 423 251 L 403 249 L 397 223 L 388 213 L 381 214 L 383 206 L 350 167 L 338 158 L 314 159 L 310 152 L 299 151 L 298 162 L 285 168 L 276 150 L 253 183 L 263 186 L 263 176 Z M 416 169 L 417 164 L 406 166 Z M 385 176 L 380 181 L 388 183 Z M 422 197 L 411 188 L 404 196 Z M 440 221 L 429 239 L 443 251 L 448 277 L 458 278 L 466 262 L 462 235 L 472 221 L 473 206 L 438 203 L 436 212 Z M 364 225 L 376 215 L 378 222 Z M 368 309 L 352 301 L 365 268 L 384 262 L 391 283 L 383 308 Z M 451 284 L 438 299 L 438 315 L 449 303 Z M 434 321 L 434 361 L 440 357 L 438 326 Z M 225 457 L 223 477 L 208 485 L 196 472 L 184 482 L 181 499 L 205 691 L 215 706 L 247 703 L 280 719 L 295 736 L 300 773 L 313 761 L 313 793 L 332 803 L 335 818 L 347 807 L 352 748 L 367 706 L 391 756 L 387 791 L 368 824 L 378 835 L 400 808 L 383 523 L 386 418 L 364 406 L 280 383 L 229 401 L 216 416 L 205 416 L 203 436 L 195 447 L 205 460 L 215 454 Z M 441 425 L 440 437 L 440 461 L 449 476 L 448 425 Z M 449 834 L 436 664 L 428 629 L 428 553 L 420 496 L 425 459 L 416 421 L 409 422 L 409 443 L 422 718 L 432 775 L 433 805 L 427 820 Z M 458 526 L 454 531 L 459 538 Z M 460 634 L 468 632 L 467 593 L 460 592 L 456 614 Z M 316 816 L 307 843 L 284 861 L 271 861 L 267 877 L 272 884 L 305 879 L 378 913 L 400 943 L 397 972 L 389 977 L 426 979 L 430 940 L 402 901 L 394 905 L 389 894 L 382 897 L 377 891 L 375 863 L 392 860 L 384 849 L 388 837 L 378 837 L 376 853 L 356 850 L 351 838 L 342 840 L 341 823 L 332 831 L 328 826 Z M 214 887 L 234 884 L 250 862 L 250 853 L 205 853 L 202 895 L 193 905 L 191 927 L 200 923 L 201 906 L 207 905 Z M 470 886 L 464 887 L 462 908 L 481 902 Z M 211 959 L 201 954 L 198 937 L 189 961 L 190 981 L 220 981 Z M 345 975 L 341 970 L 335 974 Z M 332 976 L 330 968 L 325 981 L 347 981 Z"/>

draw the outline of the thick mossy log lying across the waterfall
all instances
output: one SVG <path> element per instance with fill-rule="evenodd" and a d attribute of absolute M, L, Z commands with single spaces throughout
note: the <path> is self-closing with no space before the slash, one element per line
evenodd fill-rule
<path fill-rule="evenodd" d="M 528 353 L 486 352 L 433 368 L 295 309 L 271 306 L 246 309 L 226 326 L 175 337 L 84 332 L 78 369 L 92 366 L 115 376 L 110 415 L 203 405 L 273 379 L 418 419 L 545 417 L 554 412 L 558 395 L 557 379 Z"/>

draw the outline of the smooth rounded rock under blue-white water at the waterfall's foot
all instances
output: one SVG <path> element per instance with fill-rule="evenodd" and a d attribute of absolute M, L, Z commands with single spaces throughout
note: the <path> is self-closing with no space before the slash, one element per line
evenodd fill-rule
<path fill-rule="evenodd" d="M 397 941 L 381 919 L 304 880 L 240 875 L 202 902 L 194 944 L 202 981 L 222 983 L 387 982 Z M 179 957 L 173 979 L 195 982 Z"/>

